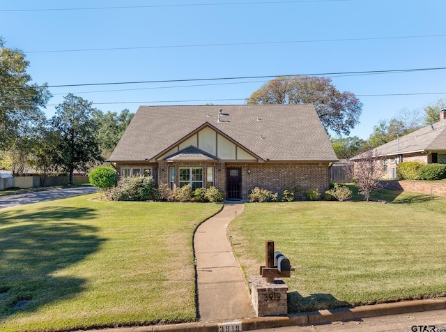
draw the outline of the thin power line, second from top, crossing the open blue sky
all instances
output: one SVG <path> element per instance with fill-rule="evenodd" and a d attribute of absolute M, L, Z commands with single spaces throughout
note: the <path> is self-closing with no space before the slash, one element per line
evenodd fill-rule
<path fill-rule="evenodd" d="M 394 40 L 413 38 L 436 38 L 445 37 L 446 34 L 421 35 L 421 36 L 393 36 L 393 37 L 367 37 L 367 38 L 338 38 L 338 39 L 309 39 L 309 40 L 284 40 L 251 43 L 218 43 L 218 44 L 191 44 L 191 45 L 157 45 L 157 46 L 136 46 L 136 47 L 105 47 L 105 48 L 85 48 L 75 50 L 43 50 L 26 51 L 24 53 L 68 53 L 68 52 L 98 52 L 98 51 L 118 51 L 118 50 L 150 50 L 163 48 L 187 48 L 187 47 L 220 47 L 220 46 L 246 46 L 246 45 L 277 45 L 277 44 L 297 44 L 297 43 L 329 43 L 342 41 L 364 41 L 364 40 Z"/>

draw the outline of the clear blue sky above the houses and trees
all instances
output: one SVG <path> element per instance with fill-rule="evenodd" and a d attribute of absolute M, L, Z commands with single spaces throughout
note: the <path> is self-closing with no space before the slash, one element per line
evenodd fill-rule
<path fill-rule="evenodd" d="M 2 0 L 0 36 L 50 86 L 443 68 L 445 13 L 444 0 Z M 351 135 L 367 139 L 380 119 L 446 98 L 445 73 L 325 76 L 364 104 Z M 54 87 L 45 112 L 68 93 L 104 112 L 243 104 L 268 80 Z"/>

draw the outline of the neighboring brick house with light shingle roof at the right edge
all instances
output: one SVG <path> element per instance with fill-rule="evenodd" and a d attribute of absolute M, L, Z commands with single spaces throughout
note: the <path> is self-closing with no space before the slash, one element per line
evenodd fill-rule
<path fill-rule="evenodd" d="M 446 110 L 440 111 L 440 121 L 378 146 L 373 153 L 382 160 L 385 179 L 396 179 L 397 164 L 406 161 L 446 164 Z M 361 159 L 351 158 L 354 164 Z"/>

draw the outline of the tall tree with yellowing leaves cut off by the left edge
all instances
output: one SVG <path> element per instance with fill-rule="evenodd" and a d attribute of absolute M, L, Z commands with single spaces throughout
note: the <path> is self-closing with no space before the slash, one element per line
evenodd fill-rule
<path fill-rule="evenodd" d="M 0 37 L 0 149 L 8 149 L 45 119 L 40 107 L 52 95 L 47 84 L 31 84 L 28 66 L 24 53 L 5 47 Z"/>

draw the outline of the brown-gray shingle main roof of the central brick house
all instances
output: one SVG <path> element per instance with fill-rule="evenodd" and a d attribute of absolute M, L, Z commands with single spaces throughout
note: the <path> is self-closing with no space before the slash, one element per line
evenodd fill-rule
<path fill-rule="evenodd" d="M 337 160 L 313 105 L 141 106 L 109 160 L 151 160 L 206 122 L 263 160 Z"/>

